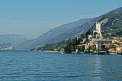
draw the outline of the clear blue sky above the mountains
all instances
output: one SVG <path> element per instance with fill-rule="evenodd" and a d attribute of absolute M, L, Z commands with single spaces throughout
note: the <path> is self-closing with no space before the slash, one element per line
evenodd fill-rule
<path fill-rule="evenodd" d="M 122 0 L 0 0 L 0 34 L 32 39 L 62 24 L 119 7 Z"/>

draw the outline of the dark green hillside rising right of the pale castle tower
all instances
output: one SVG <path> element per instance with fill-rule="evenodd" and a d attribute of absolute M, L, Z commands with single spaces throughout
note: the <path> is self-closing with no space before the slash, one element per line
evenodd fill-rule
<path fill-rule="evenodd" d="M 104 37 L 122 36 L 122 7 L 105 14 L 100 21 Z"/>

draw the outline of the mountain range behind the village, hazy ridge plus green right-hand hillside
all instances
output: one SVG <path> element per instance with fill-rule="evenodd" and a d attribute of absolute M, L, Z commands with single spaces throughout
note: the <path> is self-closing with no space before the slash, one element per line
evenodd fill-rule
<path fill-rule="evenodd" d="M 104 36 L 122 35 L 122 7 L 96 18 L 80 19 L 78 21 L 61 25 L 34 40 L 28 40 L 19 49 L 30 49 L 44 46 L 45 44 L 57 43 L 63 40 L 73 39 L 80 34 L 86 33 L 94 27 L 97 21 L 103 22 L 102 33 Z"/>

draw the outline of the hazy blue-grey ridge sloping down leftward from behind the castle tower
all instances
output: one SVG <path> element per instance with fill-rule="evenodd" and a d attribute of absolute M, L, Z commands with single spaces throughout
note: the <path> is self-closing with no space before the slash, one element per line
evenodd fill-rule
<path fill-rule="evenodd" d="M 18 46 L 18 49 L 30 49 L 34 47 L 44 46 L 45 44 L 61 42 L 63 40 L 72 39 L 83 34 L 90 29 L 100 17 L 80 19 L 78 21 L 61 25 L 34 40 L 28 40 Z"/>

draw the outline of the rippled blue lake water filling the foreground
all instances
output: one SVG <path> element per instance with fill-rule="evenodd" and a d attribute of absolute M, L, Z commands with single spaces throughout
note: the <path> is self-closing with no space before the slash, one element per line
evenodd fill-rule
<path fill-rule="evenodd" d="M 1 51 L 0 81 L 122 81 L 122 56 Z"/>

